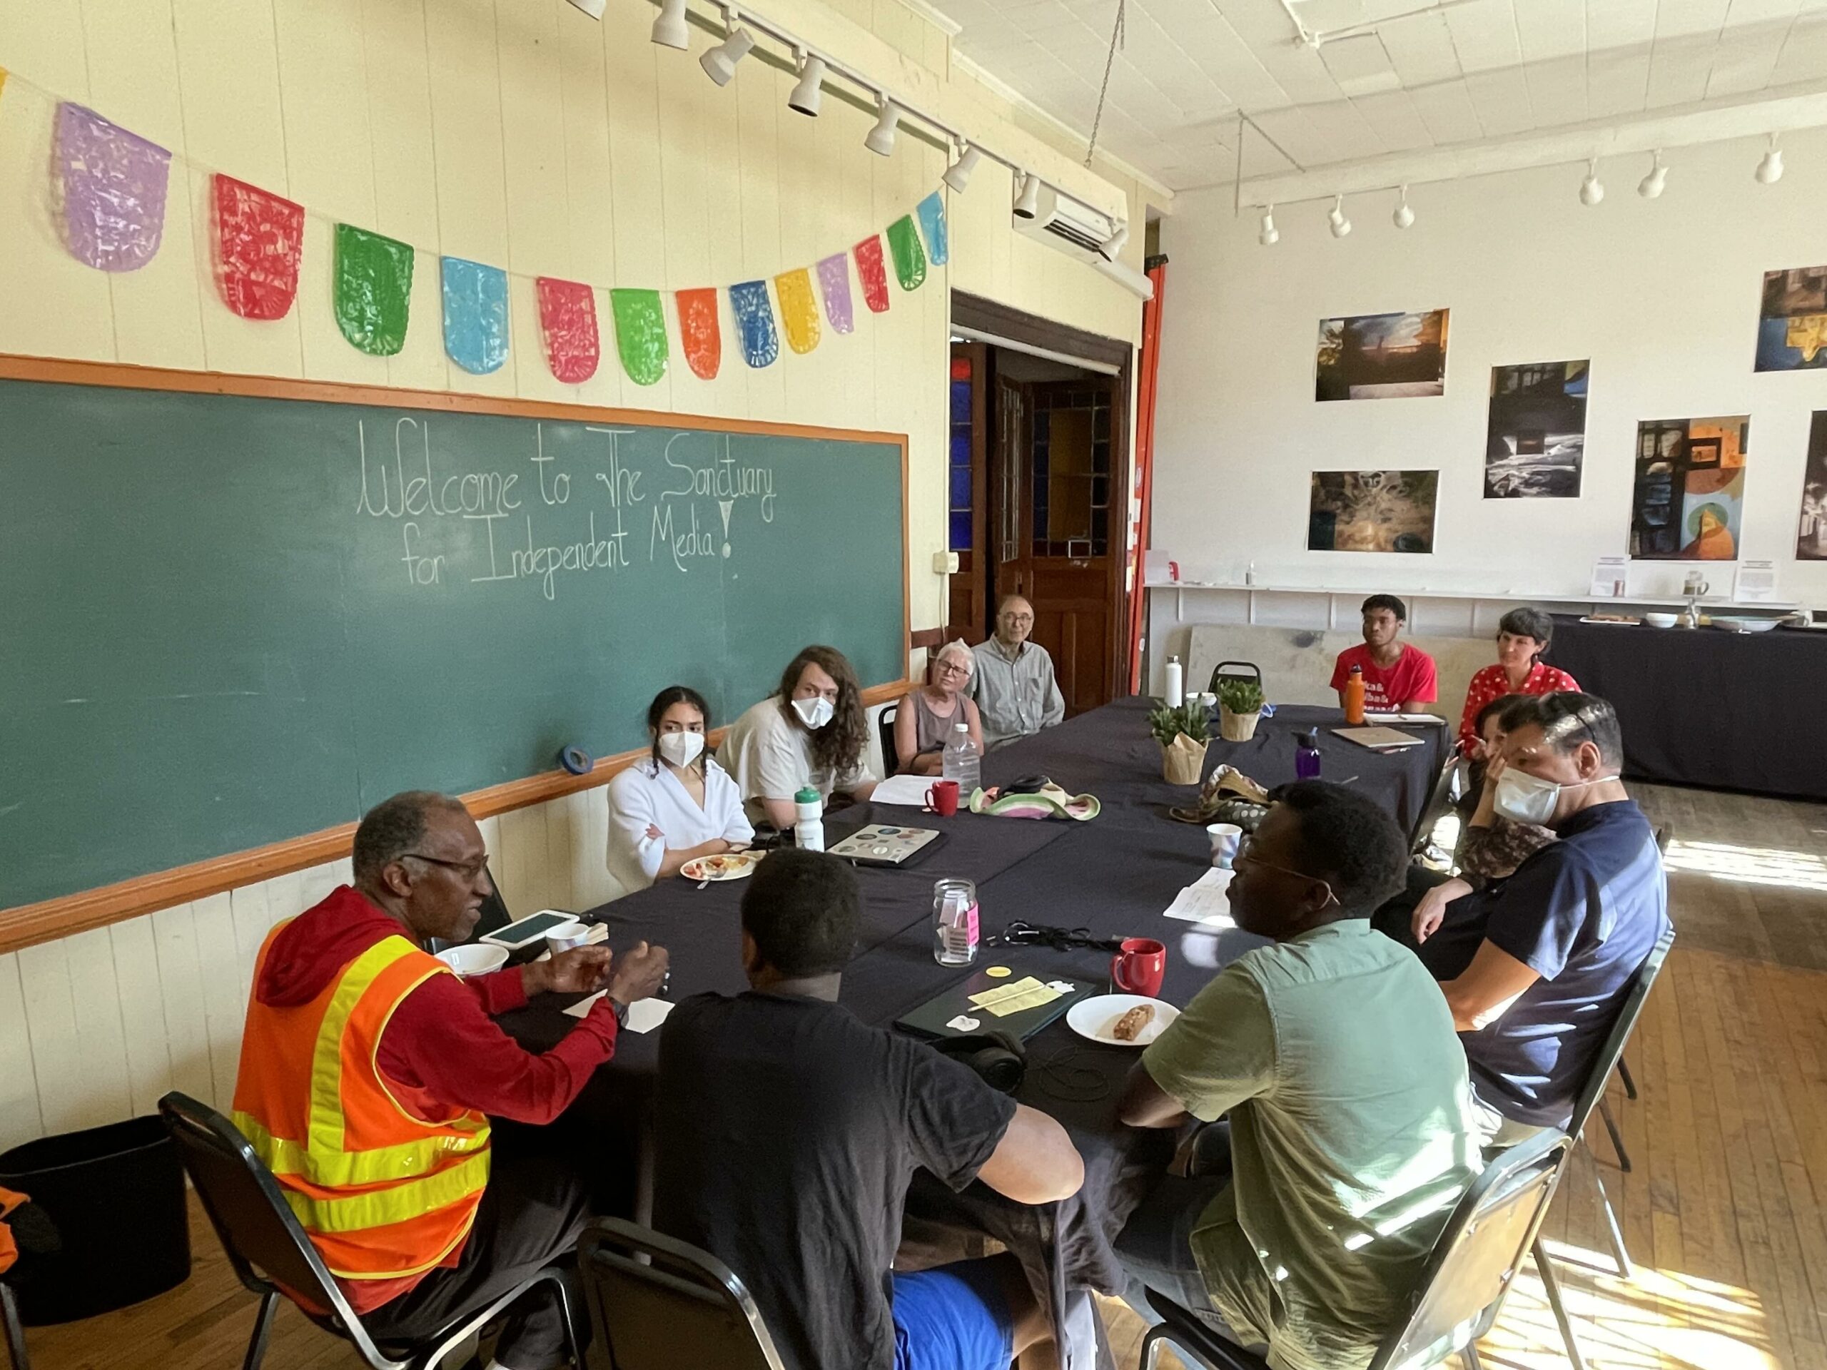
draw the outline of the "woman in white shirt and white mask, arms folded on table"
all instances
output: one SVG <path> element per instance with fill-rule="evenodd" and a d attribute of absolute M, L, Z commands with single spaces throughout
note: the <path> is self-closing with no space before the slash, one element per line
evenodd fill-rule
<path fill-rule="evenodd" d="M 625 890 L 755 837 L 736 782 L 703 751 L 709 727 L 711 707 L 689 685 L 667 685 L 647 707 L 652 756 L 608 782 L 608 871 Z"/>

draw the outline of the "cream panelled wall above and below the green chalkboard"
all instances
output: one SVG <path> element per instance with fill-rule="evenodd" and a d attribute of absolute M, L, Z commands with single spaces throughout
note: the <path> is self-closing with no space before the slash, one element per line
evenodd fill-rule
<path fill-rule="evenodd" d="M 1142 192 L 1111 184 L 1018 126 L 1007 100 L 948 75 L 945 35 L 897 0 L 780 0 L 773 18 L 914 93 L 996 146 L 1140 225 Z M 862 148 L 870 119 L 826 99 L 786 108 L 791 79 L 758 60 L 716 90 L 692 53 L 649 44 L 652 9 L 610 0 L 601 24 L 563 0 L 33 0 L 0 5 L 0 351 L 689 415 L 736 415 L 910 438 L 914 625 L 941 621 L 948 290 L 985 294 L 1136 340 L 1120 287 L 1009 228 L 1009 175 L 983 164 L 950 195 L 952 267 L 857 332 L 713 382 L 678 364 L 654 387 L 608 354 L 557 384 L 537 343 L 532 278 L 661 289 L 773 276 L 848 248 L 912 210 L 945 159 L 903 137 Z M 55 99 L 93 106 L 179 153 L 166 241 L 130 276 L 58 245 L 48 163 Z M 208 172 L 311 210 L 300 301 L 278 323 L 214 294 Z M 418 248 L 413 327 L 395 358 L 349 347 L 331 318 L 333 223 Z M 1142 265 L 1142 234 L 1127 259 Z M 493 376 L 444 358 L 437 256 L 517 272 L 513 345 Z M 608 320 L 607 298 L 599 316 Z M 672 327 L 676 321 L 669 320 Z M 663 681 L 658 681 L 663 683 Z M 616 893 L 601 789 L 484 824 L 513 910 L 588 908 Z M 336 862 L 0 955 L 0 1147 L 144 1112 L 170 1087 L 227 1105 L 252 955 L 265 930 L 345 879 Z"/>

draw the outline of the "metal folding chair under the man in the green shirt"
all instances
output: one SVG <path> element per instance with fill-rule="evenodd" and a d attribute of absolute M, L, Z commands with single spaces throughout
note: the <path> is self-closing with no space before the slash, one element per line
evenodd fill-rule
<path fill-rule="evenodd" d="M 1537 1237 L 1571 1145 L 1558 1133 L 1542 1133 L 1485 1165 L 1447 1218 L 1401 1317 L 1378 1344 L 1370 1370 L 1423 1370 L 1452 1354 L 1465 1359 L 1467 1370 L 1480 1370 L 1476 1343 L 1496 1323 L 1504 1295 L 1531 1251 L 1547 1302 L 1571 1344 L 1560 1284 Z M 1158 1293 L 1149 1293 L 1147 1301 L 1164 1321 L 1142 1339 L 1142 1370 L 1155 1370 L 1164 1344 L 1206 1370 L 1266 1370 L 1262 1357 L 1226 1341 L 1186 1308 Z"/>

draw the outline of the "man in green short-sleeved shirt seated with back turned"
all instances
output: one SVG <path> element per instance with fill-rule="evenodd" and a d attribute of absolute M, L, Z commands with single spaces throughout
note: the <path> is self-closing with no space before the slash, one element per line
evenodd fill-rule
<path fill-rule="evenodd" d="M 1452 1016 L 1368 922 L 1405 864 L 1394 820 L 1356 791 L 1281 791 L 1228 891 L 1237 926 L 1273 946 L 1199 992 L 1118 1111 L 1133 1127 L 1230 1114 L 1230 1175 L 1164 1178 L 1116 1249 L 1275 1370 L 1367 1365 L 1478 1173 Z"/>

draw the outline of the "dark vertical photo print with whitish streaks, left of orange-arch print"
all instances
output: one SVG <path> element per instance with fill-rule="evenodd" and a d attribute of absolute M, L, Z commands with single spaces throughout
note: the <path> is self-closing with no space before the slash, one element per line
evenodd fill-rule
<path fill-rule="evenodd" d="M 1579 499 L 1588 365 L 1491 367 L 1485 499 Z"/>

